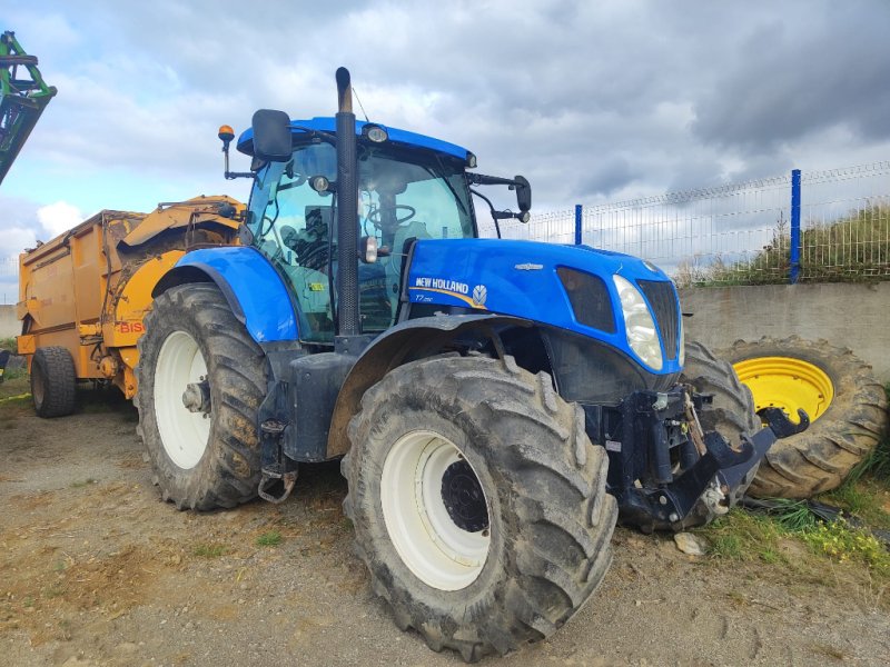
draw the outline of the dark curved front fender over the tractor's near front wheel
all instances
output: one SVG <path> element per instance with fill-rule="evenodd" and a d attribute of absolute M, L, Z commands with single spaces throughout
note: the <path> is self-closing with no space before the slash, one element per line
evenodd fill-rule
<path fill-rule="evenodd" d="M 473 329 L 532 325 L 526 319 L 502 315 L 422 317 L 396 325 L 365 348 L 346 376 L 330 418 L 327 458 L 343 456 L 349 450 L 349 420 L 358 412 L 362 397 L 394 368 L 435 355 L 449 341 Z"/>

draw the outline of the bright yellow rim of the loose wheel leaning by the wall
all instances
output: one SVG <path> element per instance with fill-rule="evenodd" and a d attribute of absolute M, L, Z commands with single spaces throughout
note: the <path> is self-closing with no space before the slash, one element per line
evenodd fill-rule
<path fill-rule="evenodd" d="M 803 408 L 815 421 L 828 410 L 834 398 L 834 386 L 825 372 L 801 359 L 790 357 L 758 357 L 733 364 L 732 367 L 754 396 L 754 407 L 775 407 L 798 422 L 798 408 Z"/>

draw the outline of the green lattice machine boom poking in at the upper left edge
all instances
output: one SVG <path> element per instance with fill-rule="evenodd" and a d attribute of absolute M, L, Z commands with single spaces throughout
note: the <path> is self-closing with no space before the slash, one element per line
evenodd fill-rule
<path fill-rule="evenodd" d="M 37 56 L 22 50 L 14 32 L 3 32 L 0 36 L 0 183 L 56 92 L 40 76 Z"/>

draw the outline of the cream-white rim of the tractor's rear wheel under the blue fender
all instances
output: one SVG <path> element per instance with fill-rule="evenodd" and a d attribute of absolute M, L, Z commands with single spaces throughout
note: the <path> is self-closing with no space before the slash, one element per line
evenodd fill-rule
<path fill-rule="evenodd" d="M 164 450 L 188 470 L 201 460 L 210 437 L 210 418 L 182 405 L 182 392 L 207 377 L 207 364 L 195 339 L 174 331 L 164 341 L 155 365 L 155 417 Z"/>

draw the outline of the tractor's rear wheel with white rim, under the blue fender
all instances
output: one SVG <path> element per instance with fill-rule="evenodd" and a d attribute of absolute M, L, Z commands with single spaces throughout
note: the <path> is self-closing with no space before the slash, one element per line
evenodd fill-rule
<path fill-rule="evenodd" d="M 266 389 L 259 346 L 211 283 L 164 292 L 145 325 L 134 402 L 162 498 L 200 510 L 255 498 Z"/>

